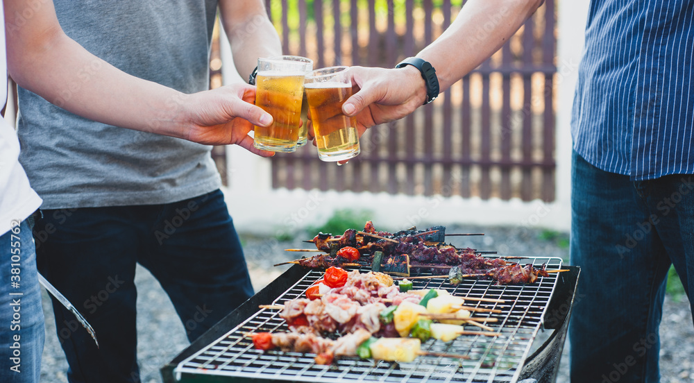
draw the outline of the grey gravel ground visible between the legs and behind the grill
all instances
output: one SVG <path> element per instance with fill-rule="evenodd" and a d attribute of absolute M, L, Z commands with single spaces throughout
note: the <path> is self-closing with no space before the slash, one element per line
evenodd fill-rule
<path fill-rule="evenodd" d="M 480 250 L 500 250 L 508 255 L 538 254 L 567 259 L 566 234 L 556 236 L 547 232 L 519 227 L 458 227 L 449 232 L 484 232 L 484 237 L 458 237 L 452 242 L 459 247 Z M 277 278 L 287 266 L 272 265 L 293 259 L 296 253 L 286 253 L 284 248 L 303 248 L 299 240 L 278 242 L 275 239 L 243 236 L 248 267 L 255 290 Z M 512 248 L 512 251 L 508 249 Z M 139 291 L 137 297 L 138 356 L 142 382 L 161 382 L 159 369 L 187 347 L 183 325 L 178 320 L 174 307 L 159 283 L 149 271 L 138 266 L 135 279 Z M 46 346 L 41 369 L 42 382 L 67 382 L 67 361 L 62 354 L 53 312 L 44 291 L 44 314 L 46 315 Z M 666 298 L 661 324 L 661 375 L 663 383 L 694 382 L 694 327 L 686 298 Z M 568 380 L 568 347 L 564 348 L 561 370 L 557 382 Z M 597 383 L 597 382 L 596 382 Z"/>

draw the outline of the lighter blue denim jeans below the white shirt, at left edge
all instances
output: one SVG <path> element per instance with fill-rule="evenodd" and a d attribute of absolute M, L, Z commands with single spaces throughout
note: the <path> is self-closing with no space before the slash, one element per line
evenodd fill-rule
<path fill-rule="evenodd" d="M 0 236 L 0 382 L 38 382 L 44 316 L 32 219 Z"/>

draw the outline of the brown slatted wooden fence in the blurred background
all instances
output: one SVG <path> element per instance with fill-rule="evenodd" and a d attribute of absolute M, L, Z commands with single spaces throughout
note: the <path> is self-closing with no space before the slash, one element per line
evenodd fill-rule
<path fill-rule="evenodd" d="M 462 4 L 266 0 L 266 6 L 283 51 L 320 68 L 393 67 L 432 42 Z M 483 28 L 507 12 L 489 15 Z M 555 19 L 555 1 L 545 0 L 498 53 L 437 101 L 367 131 L 361 155 L 346 166 L 321 162 L 310 144 L 278 153 L 273 187 L 553 201 Z"/>

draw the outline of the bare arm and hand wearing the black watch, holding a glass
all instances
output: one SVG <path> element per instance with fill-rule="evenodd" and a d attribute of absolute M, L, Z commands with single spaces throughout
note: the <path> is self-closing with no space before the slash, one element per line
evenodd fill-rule
<path fill-rule="evenodd" d="M 436 69 L 441 92 L 482 64 L 518 31 L 542 0 L 469 0 L 455 21 L 416 57 Z M 352 67 L 353 91 L 342 110 L 356 116 L 360 133 L 400 119 L 423 105 L 426 85 L 412 65 L 400 69 Z"/>

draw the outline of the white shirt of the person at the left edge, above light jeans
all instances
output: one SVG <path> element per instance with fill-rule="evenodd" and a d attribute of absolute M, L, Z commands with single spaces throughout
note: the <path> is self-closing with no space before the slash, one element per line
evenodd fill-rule
<path fill-rule="evenodd" d="M 4 21 L 0 0 L 0 20 Z M 5 24 L 0 28 L 0 78 L 7 78 Z M 7 100 L 7 85 L 0 81 L 0 105 Z M 29 180 L 17 160 L 19 140 L 15 128 L 0 121 L 0 235 L 10 230 L 12 221 L 24 221 L 41 205 L 41 198 L 29 186 Z"/>

